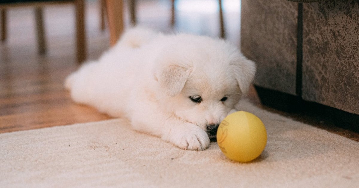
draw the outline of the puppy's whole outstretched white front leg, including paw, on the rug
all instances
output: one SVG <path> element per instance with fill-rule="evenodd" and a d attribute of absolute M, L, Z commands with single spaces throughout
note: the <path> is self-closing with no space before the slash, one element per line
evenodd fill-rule
<path fill-rule="evenodd" d="M 134 129 L 159 136 L 181 149 L 204 150 L 209 146 L 209 137 L 199 126 L 150 109 L 137 109 L 132 114 L 131 124 Z"/>

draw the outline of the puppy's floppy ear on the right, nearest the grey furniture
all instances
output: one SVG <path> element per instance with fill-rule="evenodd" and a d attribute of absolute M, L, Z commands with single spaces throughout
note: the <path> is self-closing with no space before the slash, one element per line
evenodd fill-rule
<path fill-rule="evenodd" d="M 256 64 L 242 56 L 230 65 L 242 93 L 247 93 L 256 73 Z"/>

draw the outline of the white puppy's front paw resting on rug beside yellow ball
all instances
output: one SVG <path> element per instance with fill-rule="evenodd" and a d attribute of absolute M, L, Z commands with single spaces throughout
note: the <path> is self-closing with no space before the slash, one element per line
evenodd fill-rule
<path fill-rule="evenodd" d="M 209 146 L 210 140 L 207 133 L 194 124 L 188 123 L 171 128 L 169 134 L 163 139 L 181 149 L 204 150 Z"/>

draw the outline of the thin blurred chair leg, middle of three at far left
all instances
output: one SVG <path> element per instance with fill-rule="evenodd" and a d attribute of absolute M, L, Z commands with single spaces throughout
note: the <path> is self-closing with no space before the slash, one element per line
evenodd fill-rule
<path fill-rule="evenodd" d="M 37 43 L 39 54 L 46 53 L 45 29 L 43 25 L 42 8 L 35 8 L 35 20 L 37 29 Z"/>

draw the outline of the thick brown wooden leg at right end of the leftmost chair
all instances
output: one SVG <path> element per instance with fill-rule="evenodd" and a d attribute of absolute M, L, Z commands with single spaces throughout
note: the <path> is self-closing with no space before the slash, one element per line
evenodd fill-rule
<path fill-rule="evenodd" d="M 86 40 L 85 40 L 85 2 L 76 0 L 76 50 L 78 63 L 86 59 Z"/>

